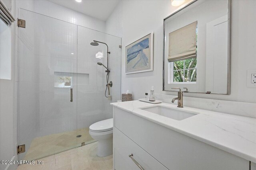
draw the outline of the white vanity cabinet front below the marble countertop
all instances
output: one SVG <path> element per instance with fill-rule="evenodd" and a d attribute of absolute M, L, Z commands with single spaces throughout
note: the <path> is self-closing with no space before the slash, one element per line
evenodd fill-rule
<path fill-rule="evenodd" d="M 114 107 L 114 169 L 249 170 L 250 161 Z M 196 125 L 195 125 L 196 128 Z M 203 131 L 204 129 L 202 129 Z M 132 158 L 129 155 L 133 154 Z"/>

